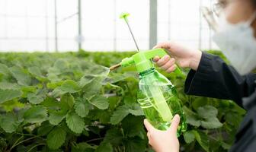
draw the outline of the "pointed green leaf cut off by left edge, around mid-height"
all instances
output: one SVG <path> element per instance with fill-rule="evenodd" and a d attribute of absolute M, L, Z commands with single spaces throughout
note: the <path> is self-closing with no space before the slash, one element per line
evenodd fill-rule
<path fill-rule="evenodd" d="M 13 100 L 14 98 L 21 97 L 22 92 L 20 90 L 2 90 L 0 89 L 0 103 Z"/>

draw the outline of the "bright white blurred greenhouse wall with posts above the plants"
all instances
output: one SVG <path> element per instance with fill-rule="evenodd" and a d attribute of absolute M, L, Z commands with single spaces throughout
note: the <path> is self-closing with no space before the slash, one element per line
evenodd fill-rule
<path fill-rule="evenodd" d="M 0 0 L 1 52 L 132 51 L 173 40 L 217 49 L 200 8 L 203 0 Z"/>

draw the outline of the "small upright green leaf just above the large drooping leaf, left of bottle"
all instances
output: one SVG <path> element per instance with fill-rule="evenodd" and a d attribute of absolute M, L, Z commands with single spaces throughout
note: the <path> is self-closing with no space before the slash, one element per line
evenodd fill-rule
<path fill-rule="evenodd" d="M 90 104 L 87 100 L 78 99 L 75 100 L 75 112 L 78 114 L 78 116 L 81 116 L 84 118 L 88 115 L 88 112 L 90 111 Z"/>

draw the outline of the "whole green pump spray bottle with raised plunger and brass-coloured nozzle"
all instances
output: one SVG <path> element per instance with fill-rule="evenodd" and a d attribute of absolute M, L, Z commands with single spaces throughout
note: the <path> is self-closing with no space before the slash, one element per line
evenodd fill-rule
<path fill-rule="evenodd" d="M 128 14 L 121 15 L 130 29 L 126 19 L 127 16 Z M 133 40 L 136 43 L 134 36 Z M 137 43 L 136 47 L 139 50 Z M 136 70 L 139 73 L 137 101 L 140 104 L 146 119 L 148 119 L 155 128 L 166 130 L 170 127 L 173 116 L 178 114 L 181 117 L 181 122 L 178 127 L 179 136 L 181 135 L 181 132 L 186 131 L 187 129 L 186 118 L 181 108 L 181 100 L 178 99 L 176 89 L 174 85 L 171 84 L 171 81 L 156 71 L 152 62 L 152 58 L 155 56 L 162 58 L 164 55 L 167 55 L 164 49 L 139 51 L 130 58 L 123 59 L 120 64 L 110 67 L 110 70 L 120 66 L 126 67 L 135 65 Z M 174 72 L 178 75 L 183 75 L 178 66 Z"/>

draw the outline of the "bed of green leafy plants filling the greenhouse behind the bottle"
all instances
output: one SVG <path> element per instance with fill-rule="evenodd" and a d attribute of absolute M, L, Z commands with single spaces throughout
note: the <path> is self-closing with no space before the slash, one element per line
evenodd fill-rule
<path fill-rule="evenodd" d="M 135 68 L 110 74 L 105 68 L 133 53 L 2 53 L 0 151 L 153 151 L 136 103 Z M 162 73 L 187 116 L 182 149 L 227 151 L 245 110 L 229 100 L 187 96 L 184 78 Z"/>

